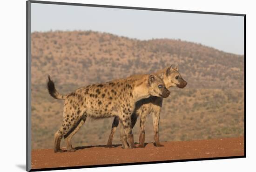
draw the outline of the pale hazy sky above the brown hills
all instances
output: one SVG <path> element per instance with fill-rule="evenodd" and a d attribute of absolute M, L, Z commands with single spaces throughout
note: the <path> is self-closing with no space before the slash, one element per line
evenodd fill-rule
<path fill-rule="evenodd" d="M 149 40 L 181 39 L 243 54 L 243 17 L 66 5 L 31 5 L 34 31 L 93 30 Z"/>

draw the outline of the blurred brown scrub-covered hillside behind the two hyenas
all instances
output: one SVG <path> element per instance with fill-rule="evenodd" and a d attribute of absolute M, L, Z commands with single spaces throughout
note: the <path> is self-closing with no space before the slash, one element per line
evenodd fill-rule
<path fill-rule="evenodd" d="M 161 141 L 243 135 L 243 56 L 181 40 L 141 41 L 93 31 L 56 31 L 32 33 L 32 147 L 53 147 L 54 132 L 61 126 L 64 101 L 47 93 L 47 74 L 66 94 L 92 83 L 153 73 L 170 64 L 179 64 L 188 86 L 171 88 L 171 96 L 164 99 Z M 88 119 L 74 136 L 74 145 L 106 144 L 112 120 Z M 138 141 L 139 123 L 133 132 Z M 149 115 L 146 141 L 153 140 Z M 120 143 L 119 132 L 114 143 Z"/>

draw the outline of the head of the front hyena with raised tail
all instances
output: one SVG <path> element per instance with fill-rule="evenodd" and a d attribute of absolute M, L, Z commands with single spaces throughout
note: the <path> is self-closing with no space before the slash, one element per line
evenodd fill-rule
<path fill-rule="evenodd" d="M 149 94 L 151 96 L 167 98 L 170 91 L 165 87 L 164 82 L 159 76 L 150 75 L 148 78 Z"/>

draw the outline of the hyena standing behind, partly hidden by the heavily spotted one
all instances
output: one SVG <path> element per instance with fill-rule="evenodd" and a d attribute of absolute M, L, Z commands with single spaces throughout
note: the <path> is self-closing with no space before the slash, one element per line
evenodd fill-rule
<path fill-rule="evenodd" d="M 178 88 L 184 88 L 187 85 L 187 82 L 182 79 L 181 74 L 178 72 L 178 66 L 175 66 L 175 68 L 172 68 L 172 66 L 169 66 L 163 70 L 160 70 L 155 73 L 156 75 L 160 76 L 165 83 L 165 86 L 167 88 L 170 88 L 172 86 L 177 86 Z M 131 116 L 131 121 L 132 125 L 131 127 L 133 128 L 135 126 L 137 117 L 140 116 L 140 128 L 141 128 L 141 133 L 140 133 L 140 138 L 139 142 L 140 145 L 139 147 L 144 147 L 144 142 L 145 142 L 145 121 L 146 121 L 146 116 L 149 113 L 153 114 L 153 126 L 154 126 L 154 132 L 155 132 L 155 144 L 156 146 L 162 146 L 159 141 L 159 119 L 160 119 L 160 111 L 162 108 L 162 98 L 161 97 L 154 97 L 150 96 L 147 99 L 141 99 L 138 101 L 135 105 L 135 111 L 133 112 Z M 112 130 L 108 138 L 108 143 L 107 147 L 112 146 L 112 140 L 115 134 L 116 127 L 118 126 L 119 119 L 118 117 L 115 117 L 113 124 L 112 124 Z M 124 135 L 124 132 L 122 131 L 121 128 L 121 133 L 120 133 L 120 140 L 122 142 L 123 148 L 128 148 L 128 143 L 126 141 L 126 137 Z"/>

